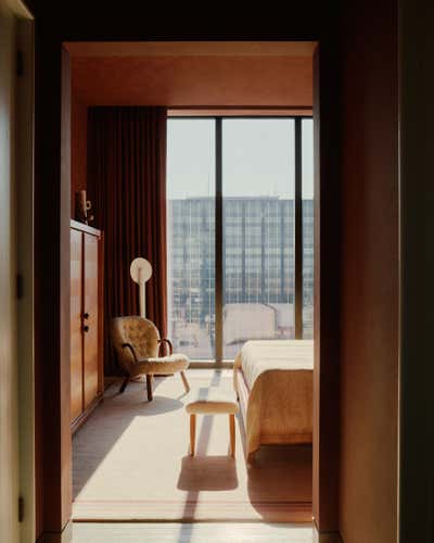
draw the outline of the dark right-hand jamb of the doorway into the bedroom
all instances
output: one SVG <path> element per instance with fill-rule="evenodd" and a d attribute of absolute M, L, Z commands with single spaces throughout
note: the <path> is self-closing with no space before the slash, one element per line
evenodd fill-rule
<path fill-rule="evenodd" d="M 340 249 L 341 179 L 337 43 L 320 42 L 314 56 L 315 298 L 314 522 L 339 532 L 340 489 Z M 324 189 L 322 189 L 324 187 Z"/>

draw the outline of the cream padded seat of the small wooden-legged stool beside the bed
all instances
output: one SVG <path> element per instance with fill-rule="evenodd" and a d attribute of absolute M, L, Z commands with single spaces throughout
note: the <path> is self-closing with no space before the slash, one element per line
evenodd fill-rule
<path fill-rule="evenodd" d="M 239 412 L 237 394 L 217 387 L 201 388 L 189 393 L 186 411 L 190 414 L 235 414 Z"/>

